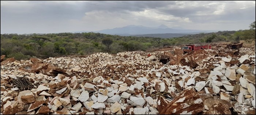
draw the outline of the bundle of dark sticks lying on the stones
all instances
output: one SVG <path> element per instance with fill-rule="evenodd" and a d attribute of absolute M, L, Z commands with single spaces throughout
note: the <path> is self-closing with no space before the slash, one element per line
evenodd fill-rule
<path fill-rule="evenodd" d="M 32 88 L 34 88 L 34 84 L 30 82 L 29 79 L 25 76 L 18 77 L 17 79 L 12 79 L 12 83 L 16 85 L 19 90 L 31 90 Z"/>

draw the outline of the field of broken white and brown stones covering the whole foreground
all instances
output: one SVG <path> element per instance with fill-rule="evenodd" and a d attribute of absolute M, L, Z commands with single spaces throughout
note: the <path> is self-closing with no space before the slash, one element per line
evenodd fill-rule
<path fill-rule="evenodd" d="M 0 114 L 253 113 L 255 47 L 211 45 L 150 57 L 143 51 L 21 61 L 1 56 Z"/>

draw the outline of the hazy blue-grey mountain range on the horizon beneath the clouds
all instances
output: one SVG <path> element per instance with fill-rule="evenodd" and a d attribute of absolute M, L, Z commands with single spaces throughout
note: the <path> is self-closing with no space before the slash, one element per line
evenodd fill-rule
<path fill-rule="evenodd" d="M 132 35 L 147 35 L 154 36 L 152 34 L 170 34 L 170 33 L 182 33 L 182 34 L 196 34 L 196 33 L 210 33 L 218 32 L 220 30 L 198 30 L 198 29 L 184 29 L 182 27 L 172 27 L 169 28 L 166 25 L 160 25 L 158 27 L 145 27 L 143 25 L 128 25 L 121 28 L 113 29 L 103 29 L 99 31 L 76 31 L 73 33 L 81 32 L 95 32 L 95 33 L 105 33 L 110 35 L 121 35 L 121 36 L 132 36 Z M 173 35 L 175 36 L 175 35 Z"/>

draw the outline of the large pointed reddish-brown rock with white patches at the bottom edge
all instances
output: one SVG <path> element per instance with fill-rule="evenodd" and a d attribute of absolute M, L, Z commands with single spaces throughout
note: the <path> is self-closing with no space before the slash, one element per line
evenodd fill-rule
<path fill-rule="evenodd" d="M 198 114 L 203 109 L 203 100 L 194 88 L 189 88 L 178 94 L 159 114 Z"/>

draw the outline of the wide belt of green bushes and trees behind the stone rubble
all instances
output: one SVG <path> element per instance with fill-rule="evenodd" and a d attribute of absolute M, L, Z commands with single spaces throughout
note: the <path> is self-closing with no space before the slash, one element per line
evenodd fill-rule
<path fill-rule="evenodd" d="M 107 35 L 102 33 L 1 34 L 1 55 L 16 60 L 63 55 L 89 55 L 94 52 L 146 51 L 168 45 L 211 43 L 255 39 L 255 22 L 249 30 L 200 33 L 168 39 Z"/>

